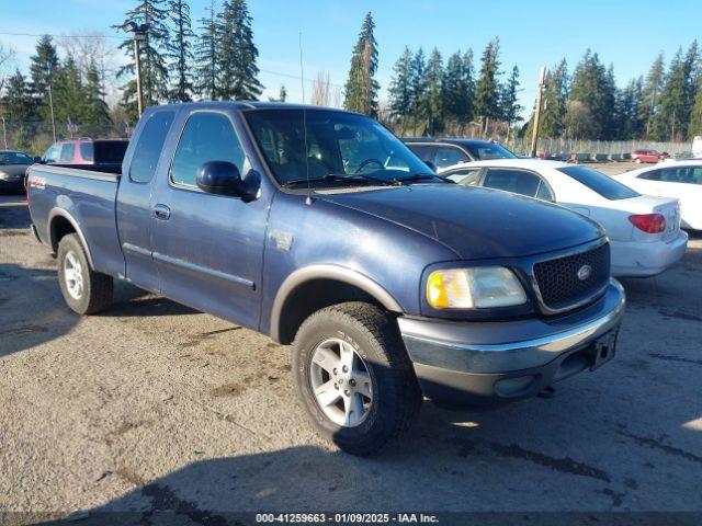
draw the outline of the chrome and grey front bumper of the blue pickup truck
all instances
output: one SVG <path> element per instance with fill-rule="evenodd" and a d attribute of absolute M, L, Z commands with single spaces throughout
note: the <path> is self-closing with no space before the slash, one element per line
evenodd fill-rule
<path fill-rule="evenodd" d="M 624 305 L 624 289 L 611 279 L 597 302 L 557 318 L 473 323 L 401 317 L 398 323 L 426 397 L 442 405 L 498 405 L 590 368 L 601 342 L 616 338 Z"/>

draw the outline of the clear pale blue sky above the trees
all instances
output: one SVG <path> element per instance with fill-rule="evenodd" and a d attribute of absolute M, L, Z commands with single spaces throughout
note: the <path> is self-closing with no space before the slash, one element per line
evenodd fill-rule
<path fill-rule="evenodd" d="M 120 43 L 112 24 L 122 23 L 137 0 L 0 0 L 0 43 L 16 50 L 16 66 L 26 71 L 35 36 L 102 32 Z M 195 27 L 210 0 L 191 0 Z M 310 79 L 326 71 L 342 87 L 350 56 L 367 11 L 376 23 L 380 50 L 377 80 L 386 99 L 393 65 L 407 45 L 429 53 L 437 47 L 444 60 L 472 48 L 476 68 L 485 45 L 499 36 L 501 67 L 521 72 L 520 103 L 531 111 L 539 69 L 562 58 L 570 70 L 589 47 L 614 65 L 618 84 L 645 75 L 658 53 L 668 60 L 679 46 L 702 39 L 701 0 L 249 0 L 253 37 L 259 49 L 261 96 L 275 96 L 285 84 L 290 102 L 302 101 L 299 37 L 302 33 L 306 95 Z M 127 60 L 116 52 L 115 66 Z M 526 116 L 524 114 L 524 116 Z"/>

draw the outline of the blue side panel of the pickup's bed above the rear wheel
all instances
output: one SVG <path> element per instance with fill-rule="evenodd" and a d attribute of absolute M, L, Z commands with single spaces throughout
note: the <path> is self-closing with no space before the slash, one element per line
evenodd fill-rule
<path fill-rule="evenodd" d="M 39 240 L 56 252 L 56 231 L 75 230 L 88 247 L 94 270 L 124 274 L 115 219 L 118 164 L 34 164 L 27 174 L 27 202 Z"/>

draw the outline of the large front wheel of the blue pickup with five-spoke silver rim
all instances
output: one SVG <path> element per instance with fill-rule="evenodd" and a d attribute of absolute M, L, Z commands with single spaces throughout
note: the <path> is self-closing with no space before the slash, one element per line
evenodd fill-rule
<path fill-rule="evenodd" d="M 395 320 L 364 302 L 333 305 L 297 331 L 293 373 L 315 427 L 342 450 L 380 451 L 406 432 L 421 393 Z"/>

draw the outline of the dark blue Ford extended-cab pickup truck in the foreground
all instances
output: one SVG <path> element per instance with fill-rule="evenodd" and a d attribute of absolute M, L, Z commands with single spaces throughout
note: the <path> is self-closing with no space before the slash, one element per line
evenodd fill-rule
<path fill-rule="evenodd" d="M 356 455 L 422 397 L 499 405 L 614 354 L 598 225 L 453 184 L 363 115 L 155 106 L 121 165 L 35 164 L 27 186 L 72 310 L 107 308 L 117 278 L 292 343 L 312 422 Z"/>

